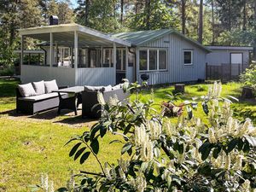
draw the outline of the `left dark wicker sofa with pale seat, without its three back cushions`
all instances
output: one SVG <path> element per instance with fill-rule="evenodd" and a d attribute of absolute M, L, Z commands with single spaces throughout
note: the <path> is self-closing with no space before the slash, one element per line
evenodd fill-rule
<path fill-rule="evenodd" d="M 67 86 L 58 87 L 58 89 L 67 88 Z M 67 94 L 61 93 L 62 97 L 66 97 Z M 59 106 L 58 93 L 49 92 L 43 94 L 37 94 L 35 96 L 22 96 L 20 89 L 16 88 L 16 112 L 35 114 L 49 110 L 52 108 L 58 108 Z"/>

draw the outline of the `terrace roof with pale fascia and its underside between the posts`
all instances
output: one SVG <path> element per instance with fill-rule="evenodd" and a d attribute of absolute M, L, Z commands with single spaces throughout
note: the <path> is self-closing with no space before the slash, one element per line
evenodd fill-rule
<path fill-rule="evenodd" d="M 49 42 L 50 32 L 53 33 L 54 42 L 63 45 L 73 45 L 74 32 L 78 32 L 79 46 L 113 46 L 113 43 L 116 43 L 117 46 L 131 46 L 131 43 L 124 39 L 75 23 L 20 29 L 20 35 L 46 42 Z"/>

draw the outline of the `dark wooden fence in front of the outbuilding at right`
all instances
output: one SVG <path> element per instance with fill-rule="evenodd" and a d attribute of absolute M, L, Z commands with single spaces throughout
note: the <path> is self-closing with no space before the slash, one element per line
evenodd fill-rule
<path fill-rule="evenodd" d="M 207 80 L 230 81 L 239 79 L 239 75 L 248 67 L 247 64 L 222 63 L 221 65 L 206 65 Z"/>

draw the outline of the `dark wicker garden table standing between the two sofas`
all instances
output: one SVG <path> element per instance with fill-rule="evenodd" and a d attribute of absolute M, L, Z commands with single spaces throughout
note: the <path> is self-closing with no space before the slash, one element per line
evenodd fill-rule
<path fill-rule="evenodd" d="M 81 93 L 83 90 L 83 86 L 74 86 L 61 90 L 54 90 L 53 92 L 58 93 L 60 99 L 58 114 L 61 114 L 61 109 L 70 109 L 74 111 L 75 115 L 77 115 L 77 108 L 79 104 L 82 103 Z M 61 93 L 73 94 L 73 96 L 62 97 Z M 77 100 L 78 102 L 76 103 Z"/>

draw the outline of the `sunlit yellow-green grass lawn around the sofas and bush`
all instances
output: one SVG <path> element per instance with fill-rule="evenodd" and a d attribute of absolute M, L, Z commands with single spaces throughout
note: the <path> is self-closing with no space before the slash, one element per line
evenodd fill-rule
<path fill-rule="evenodd" d="M 72 119 L 65 115 L 51 120 L 14 115 L 16 84 L 18 81 L 15 80 L 0 80 L 0 191 L 29 191 L 30 184 L 39 183 L 41 173 L 48 173 L 49 179 L 54 181 L 57 188 L 66 184 L 71 170 L 99 171 L 99 166 L 92 157 L 80 166 L 79 162 L 68 157 L 71 146 L 64 147 L 70 137 L 89 130 L 89 125 L 84 122 L 82 126 L 74 126 L 71 122 L 79 117 Z M 182 100 L 179 102 L 192 96 L 207 94 L 207 86 L 208 84 L 186 86 L 186 94 L 181 96 Z M 172 86 L 155 88 L 154 102 L 160 104 L 166 101 L 166 94 L 172 90 Z M 239 97 L 240 94 L 241 84 L 223 85 L 222 96 Z M 143 101 L 148 100 L 151 97 L 150 90 L 143 90 L 139 97 Z M 256 123 L 255 102 L 241 101 L 234 103 L 233 108 L 237 117 L 250 117 Z M 195 115 L 204 116 L 201 109 Z M 70 125 L 60 123 L 65 120 Z M 100 140 L 100 160 L 116 162 L 119 158 L 121 145 L 109 145 L 112 139 L 113 136 L 108 135 Z"/>

